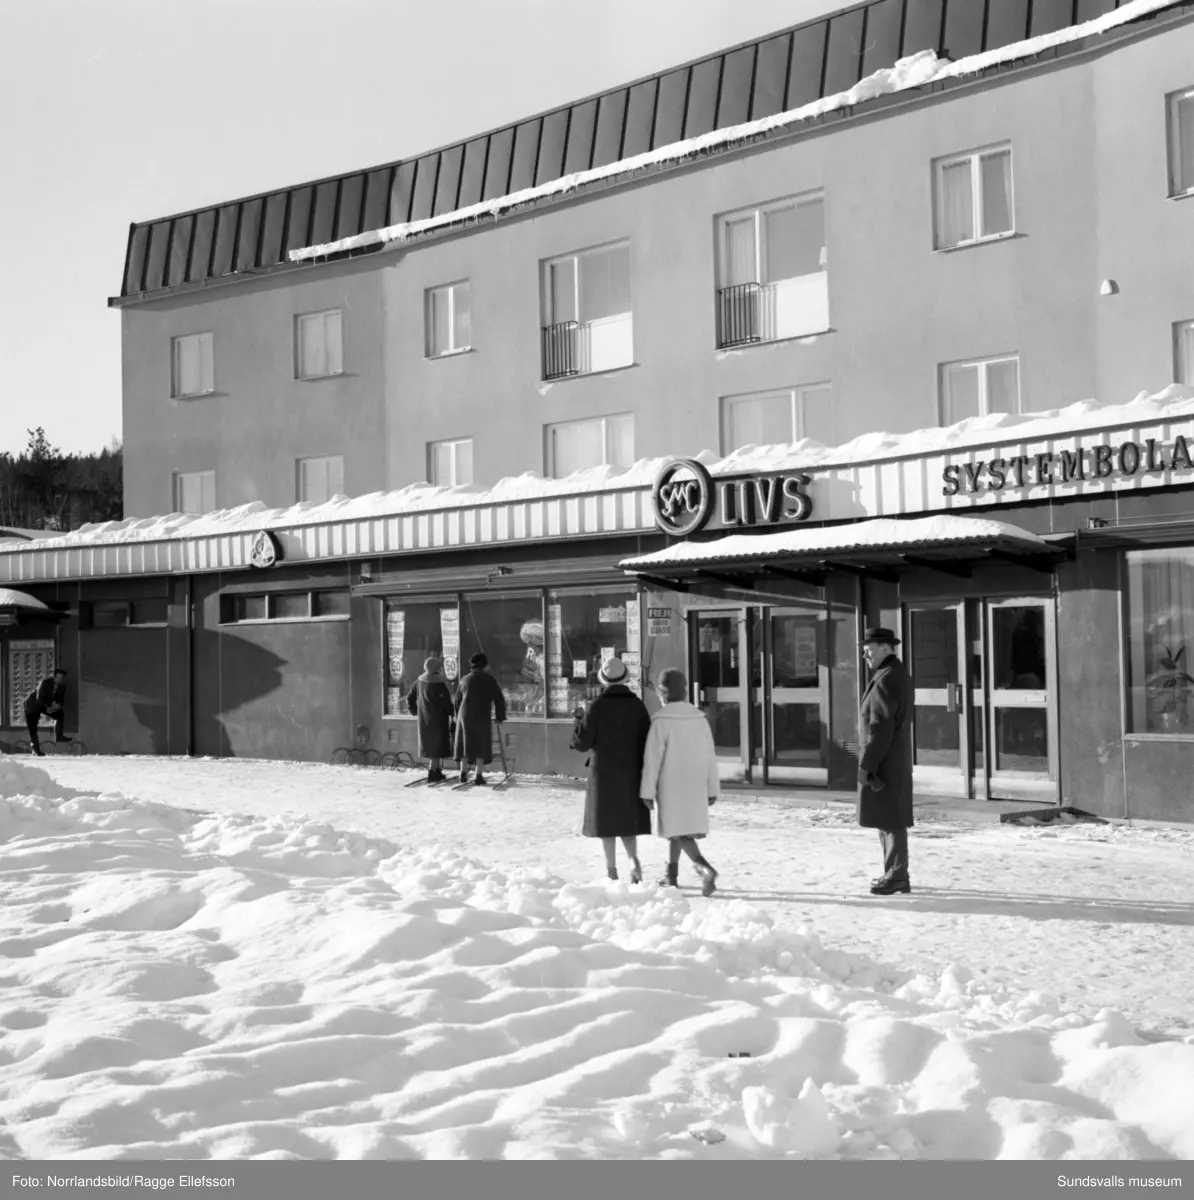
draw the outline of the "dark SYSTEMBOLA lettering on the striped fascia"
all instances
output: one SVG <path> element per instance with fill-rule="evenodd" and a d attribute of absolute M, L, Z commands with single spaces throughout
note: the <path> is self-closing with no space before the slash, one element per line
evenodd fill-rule
<path fill-rule="evenodd" d="M 1178 436 L 1168 443 L 1148 438 L 1142 443 L 978 458 L 946 467 L 941 479 L 942 494 L 958 496 L 960 492 L 1001 492 L 1004 487 L 1038 487 L 1085 479 L 1122 479 L 1154 470 L 1194 470 L 1189 439 Z"/>

